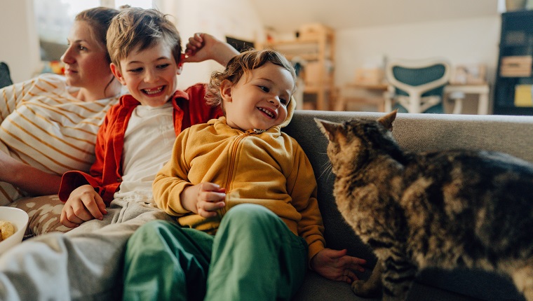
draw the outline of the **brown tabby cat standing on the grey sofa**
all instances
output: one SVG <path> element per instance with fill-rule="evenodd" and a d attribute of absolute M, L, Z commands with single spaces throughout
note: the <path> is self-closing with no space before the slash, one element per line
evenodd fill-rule
<path fill-rule="evenodd" d="M 533 301 L 533 165 L 490 151 L 403 151 L 395 118 L 316 119 L 337 207 L 379 259 L 354 293 L 405 300 L 420 269 L 476 267 L 511 276 Z"/>

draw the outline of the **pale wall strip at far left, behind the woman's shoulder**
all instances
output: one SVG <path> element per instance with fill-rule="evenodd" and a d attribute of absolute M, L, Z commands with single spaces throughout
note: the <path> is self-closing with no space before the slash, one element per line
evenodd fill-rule
<path fill-rule="evenodd" d="M 13 81 L 32 78 L 41 68 L 33 0 L 1 1 L 0 41 L 0 61 L 8 64 Z"/>

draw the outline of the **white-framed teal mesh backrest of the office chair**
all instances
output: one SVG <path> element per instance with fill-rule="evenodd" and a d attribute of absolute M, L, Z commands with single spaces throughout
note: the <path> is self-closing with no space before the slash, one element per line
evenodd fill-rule
<path fill-rule="evenodd" d="M 437 95 L 442 100 L 444 86 L 450 79 L 450 63 L 440 57 L 393 59 L 386 65 L 385 76 L 389 84 L 395 87 L 395 94 L 409 96 L 410 102 L 420 103 L 422 97 L 431 95 Z M 434 105 L 434 102 L 431 104 Z M 423 108 L 423 104 L 418 106 L 420 109 L 427 109 Z"/>

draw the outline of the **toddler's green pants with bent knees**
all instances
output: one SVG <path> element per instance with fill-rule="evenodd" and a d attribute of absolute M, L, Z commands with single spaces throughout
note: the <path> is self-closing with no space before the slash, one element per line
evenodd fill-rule
<path fill-rule="evenodd" d="M 307 244 L 272 211 L 240 204 L 217 235 L 152 221 L 128 241 L 123 300 L 290 300 Z"/>

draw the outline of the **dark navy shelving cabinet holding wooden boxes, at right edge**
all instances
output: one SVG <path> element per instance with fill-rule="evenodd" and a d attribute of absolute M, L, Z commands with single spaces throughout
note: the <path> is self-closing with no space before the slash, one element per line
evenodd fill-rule
<path fill-rule="evenodd" d="M 501 14 L 494 114 L 533 115 L 533 10 Z"/>

